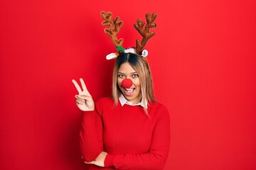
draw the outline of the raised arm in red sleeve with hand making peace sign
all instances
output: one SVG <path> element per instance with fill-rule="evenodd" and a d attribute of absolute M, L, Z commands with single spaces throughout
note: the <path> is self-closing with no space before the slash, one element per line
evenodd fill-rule
<path fill-rule="evenodd" d="M 82 128 L 80 130 L 82 157 L 85 162 L 90 162 L 102 152 L 102 120 L 83 79 L 80 79 L 82 89 L 77 81 L 74 79 L 72 81 L 79 93 L 75 95 L 76 103 L 78 108 L 83 111 Z"/>

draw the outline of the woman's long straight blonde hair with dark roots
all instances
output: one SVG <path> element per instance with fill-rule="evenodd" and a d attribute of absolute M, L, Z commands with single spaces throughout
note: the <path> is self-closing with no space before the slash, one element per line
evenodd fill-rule
<path fill-rule="evenodd" d="M 142 93 L 142 104 L 144 104 L 145 106 L 146 103 L 156 102 L 154 98 L 151 70 L 149 68 L 149 64 L 146 58 L 142 58 L 133 53 L 124 53 L 122 55 L 119 55 L 119 57 L 117 58 L 114 64 L 114 69 L 113 69 L 112 97 L 114 98 L 115 106 L 117 105 L 118 98 L 121 95 L 121 91 L 117 86 L 117 72 L 119 71 L 119 68 L 121 67 L 121 65 L 124 64 L 125 62 L 128 62 L 139 76 L 139 83 L 141 85 L 141 93 Z"/>

